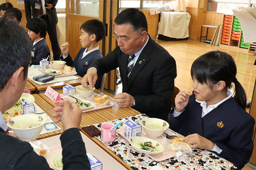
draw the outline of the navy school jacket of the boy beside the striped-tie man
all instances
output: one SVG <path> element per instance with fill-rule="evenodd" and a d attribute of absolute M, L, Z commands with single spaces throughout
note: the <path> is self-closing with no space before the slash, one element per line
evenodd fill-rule
<path fill-rule="evenodd" d="M 76 55 L 76 58 L 72 59 L 72 57 L 70 56 L 70 54 L 68 53 L 67 58 L 62 59 L 63 61 L 66 62 L 67 65 L 71 66 L 71 67 L 75 67 L 76 68 L 76 72 L 79 76 L 83 77 L 84 74 L 86 74 L 87 69 L 90 65 L 90 63 L 92 63 L 93 61 L 95 61 L 96 59 L 102 58 L 102 53 L 98 50 L 92 51 L 89 54 L 87 54 L 83 59 L 81 59 L 83 57 L 83 53 L 85 51 L 86 48 L 81 48 L 78 52 L 78 54 Z M 61 56 L 61 58 L 63 58 Z M 101 81 L 102 81 L 102 77 L 103 75 L 99 75 L 96 84 L 95 84 L 95 88 L 98 89 L 100 87 Z"/>

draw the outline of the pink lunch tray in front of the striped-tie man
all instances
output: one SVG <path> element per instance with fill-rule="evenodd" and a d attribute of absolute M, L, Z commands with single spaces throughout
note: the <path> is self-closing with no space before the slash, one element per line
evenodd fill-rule
<path fill-rule="evenodd" d="M 91 111 L 97 111 L 97 110 L 105 109 L 105 108 L 111 108 L 114 105 L 114 103 L 109 99 L 110 97 L 108 97 L 108 100 L 103 105 L 97 104 L 96 102 L 94 102 L 94 99 L 93 99 L 93 96 L 95 96 L 95 95 L 97 95 L 97 94 L 95 92 L 93 92 L 93 94 L 91 95 L 92 97 L 84 98 L 84 97 L 81 97 L 79 94 L 74 94 L 74 96 L 77 97 L 78 99 L 84 99 L 84 100 L 87 100 L 89 102 L 93 102 L 93 104 L 94 104 L 93 108 L 90 108 L 88 110 L 84 110 L 84 111 L 82 111 L 83 113 L 91 112 Z M 63 99 L 63 94 L 60 94 L 60 96 Z"/>

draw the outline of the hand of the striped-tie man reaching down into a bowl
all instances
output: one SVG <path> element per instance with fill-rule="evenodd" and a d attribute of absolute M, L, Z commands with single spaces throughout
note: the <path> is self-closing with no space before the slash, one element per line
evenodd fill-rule
<path fill-rule="evenodd" d="M 93 89 L 94 85 L 96 84 L 96 81 L 98 79 L 97 71 L 94 68 L 91 68 L 87 71 L 87 74 L 84 75 L 81 84 L 86 89 Z M 88 86 L 89 83 L 89 86 Z"/>

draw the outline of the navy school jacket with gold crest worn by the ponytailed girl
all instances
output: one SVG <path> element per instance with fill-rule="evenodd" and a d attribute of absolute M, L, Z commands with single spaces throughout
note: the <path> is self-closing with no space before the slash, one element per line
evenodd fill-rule
<path fill-rule="evenodd" d="M 239 170 L 249 161 L 253 151 L 253 125 L 255 123 L 235 99 L 230 98 L 203 118 L 202 107 L 190 96 L 189 104 L 180 116 L 169 113 L 170 128 L 187 136 L 192 133 L 214 142 L 222 152 L 218 156 L 231 161 Z"/>

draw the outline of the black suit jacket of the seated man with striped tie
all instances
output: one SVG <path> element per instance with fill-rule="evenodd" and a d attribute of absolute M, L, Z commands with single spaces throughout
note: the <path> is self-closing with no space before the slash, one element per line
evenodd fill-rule
<path fill-rule="evenodd" d="M 150 117 L 167 120 L 174 79 L 177 76 L 175 59 L 149 37 L 129 79 L 127 65 L 128 54 L 124 54 L 117 46 L 106 57 L 93 62 L 89 68 L 95 67 L 98 74 L 104 74 L 119 67 L 122 92 L 134 97 L 134 108 Z"/>

